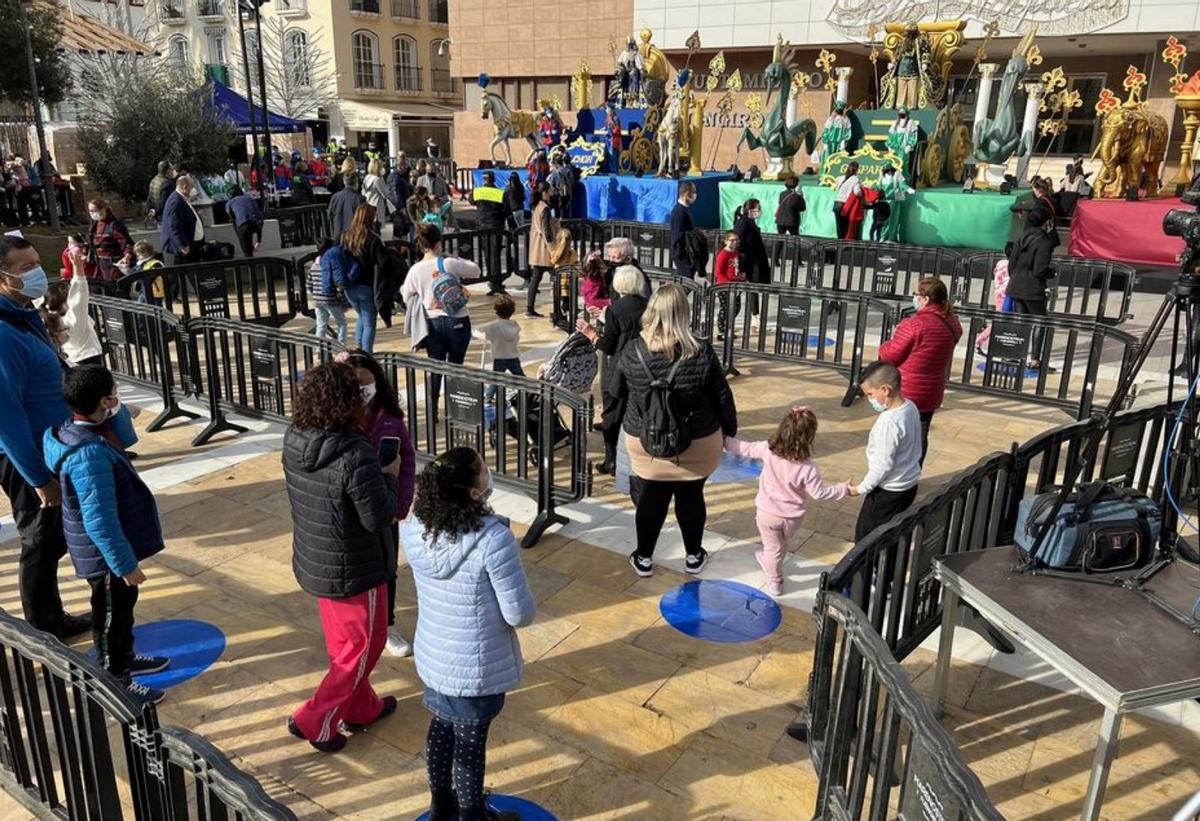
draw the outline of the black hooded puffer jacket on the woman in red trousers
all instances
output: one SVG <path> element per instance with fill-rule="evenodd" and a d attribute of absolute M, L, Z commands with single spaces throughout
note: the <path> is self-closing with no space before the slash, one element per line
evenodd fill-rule
<path fill-rule="evenodd" d="M 370 439 L 289 427 L 283 479 L 292 504 L 292 570 L 306 593 L 346 599 L 395 573 L 397 481 L 383 472 Z"/>

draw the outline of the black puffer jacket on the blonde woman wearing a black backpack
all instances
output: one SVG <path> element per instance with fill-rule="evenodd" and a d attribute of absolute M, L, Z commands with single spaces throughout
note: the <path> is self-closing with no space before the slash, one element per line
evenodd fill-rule
<path fill-rule="evenodd" d="M 650 379 L 637 359 L 638 349 L 656 379 L 666 378 L 673 364 L 664 354 L 650 353 L 641 337 L 630 341 L 622 350 L 613 373 L 613 394 L 629 400 L 623 425 L 629 436 L 642 435 L 642 403 L 636 397 L 646 396 L 650 389 Z M 712 344 L 701 342 L 700 353 L 679 366 L 673 392 L 679 407 L 689 412 L 686 423 L 692 439 L 716 431 L 737 436 L 738 410 L 733 404 L 733 391 Z"/>

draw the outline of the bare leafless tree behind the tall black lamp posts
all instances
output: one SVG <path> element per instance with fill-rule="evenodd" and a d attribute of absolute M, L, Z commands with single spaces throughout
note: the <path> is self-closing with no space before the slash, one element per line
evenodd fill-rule
<path fill-rule="evenodd" d="M 250 60 L 250 79 L 253 96 L 258 97 L 258 53 L 256 42 L 259 32 L 246 28 L 246 56 Z M 266 79 L 268 108 L 294 120 L 314 120 L 317 109 L 337 100 L 337 72 L 332 56 L 320 47 L 324 30 L 289 25 L 282 17 L 264 17 L 260 34 L 263 49 L 263 73 Z M 242 71 L 241 43 L 234 37 L 232 73 L 239 86 L 246 88 Z"/>

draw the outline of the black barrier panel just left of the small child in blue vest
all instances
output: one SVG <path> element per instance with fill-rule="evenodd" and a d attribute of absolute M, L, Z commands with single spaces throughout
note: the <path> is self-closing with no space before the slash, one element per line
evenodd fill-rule
<path fill-rule="evenodd" d="M 296 270 L 290 259 L 251 257 L 156 268 L 121 277 L 118 295 L 142 293 L 152 299 L 160 277 L 162 306 L 184 322 L 217 317 L 278 328 L 296 316 Z"/>

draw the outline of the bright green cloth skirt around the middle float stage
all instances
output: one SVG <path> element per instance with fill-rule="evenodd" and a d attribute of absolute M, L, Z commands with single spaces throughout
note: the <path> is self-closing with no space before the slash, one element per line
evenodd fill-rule
<path fill-rule="evenodd" d="M 833 215 L 834 191 L 817 184 L 815 176 L 800 178 L 806 209 L 800 233 L 834 238 L 838 234 Z M 782 182 L 721 182 L 721 227 L 733 227 L 733 211 L 748 199 L 762 202 L 758 226 L 775 232 L 775 205 Z M 1003 251 L 1004 244 L 1020 232 L 1010 210 L 1028 191 L 1002 194 L 995 191 L 964 193 L 956 186 L 918 188 L 901 203 L 900 239 L 910 245 L 947 248 L 985 248 Z M 698 205 L 698 203 L 697 203 Z M 871 215 L 863 223 L 863 238 L 869 236 Z"/>

